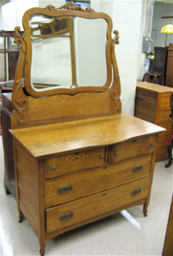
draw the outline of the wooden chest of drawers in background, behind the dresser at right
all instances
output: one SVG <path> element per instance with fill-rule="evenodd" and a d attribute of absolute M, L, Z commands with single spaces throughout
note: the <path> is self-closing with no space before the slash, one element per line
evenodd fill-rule
<path fill-rule="evenodd" d="M 156 149 L 156 161 L 168 159 L 167 141 L 172 134 L 172 118 L 170 110 L 170 96 L 173 89 L 147 82 L 137 82 L 135 117 L 155 123 L 166 131 L 159 136 Z"/>

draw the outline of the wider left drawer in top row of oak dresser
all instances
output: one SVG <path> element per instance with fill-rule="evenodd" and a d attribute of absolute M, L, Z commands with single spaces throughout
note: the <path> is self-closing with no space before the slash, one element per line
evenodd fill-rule
<path fill-rule="evenodd" d="M 45 178 L 50 179 L 76 170 L 101 166 L 104 164 L 104 159 L 105 148 L 46 159 L 44 161 Z"/>

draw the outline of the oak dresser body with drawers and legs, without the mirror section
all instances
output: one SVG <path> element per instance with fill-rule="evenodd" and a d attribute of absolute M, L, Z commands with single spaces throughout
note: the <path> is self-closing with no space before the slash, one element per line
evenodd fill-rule
<path fill-rule="evenodd" d="M 45 239 L 70 229 L 140 204 L 146 215 L 163 130 L 117 114 L 11 131 L 20 220 L 42 255 Z"/>

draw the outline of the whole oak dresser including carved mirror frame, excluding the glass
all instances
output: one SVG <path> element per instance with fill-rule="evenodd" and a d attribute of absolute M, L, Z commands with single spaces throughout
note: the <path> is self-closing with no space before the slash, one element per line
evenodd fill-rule
<path fill-rule="evenodd" d="M 33 87 L 30 20 L 36 14 L 47 18 L 46 24 L 64 16 L 77 17 L 76 21 L 87 18 L 92 22 L 90 29 L 100 19 L 106 21 L 105 84 L 78 85 L 73 89 Z M 96 26 L 96 30 L 103 26 Z M 143 204 L 146 216 L 156 143 L 164 128 L 121 114 L 121 88 L 114 56 L 119 36 L 114 30 L 116 36 L 112 39 L 112 21 L 107 14 L 81 9 L 72 2 L 57 9 L 49 5 L 26 12 L 23 27 L 22 38 L 15 29 L 21 52 L 12 91 L 10 131 L 19 221 L 24 217 L 28 220 L 38 236 L 40 254 L 44 255 L 46 239 L 130 206 Z M 85 30 L 88 37 L 89 30 Z M 88 40 L 94 38 L 96 30 Z M 101 49 L 102 55 L 100 41 L 94 38 L 92 43 L 96 50 Z M 84 64 L 89 62 L 88 55 L 89 51 L 80 56 L 85 56 Z M 87 70 L 85 79 L 90 79 L 92 71 L 93 68 Z"/>

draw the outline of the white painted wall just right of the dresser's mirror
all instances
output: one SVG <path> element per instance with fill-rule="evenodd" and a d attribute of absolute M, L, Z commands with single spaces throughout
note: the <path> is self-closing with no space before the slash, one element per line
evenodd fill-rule
<path fill-rule="evenodd" d="M 115 52 L 121 82 L 122 112 L 134 114 L 138 51 L 141 32 L 142 0 L 91 0 L 95 11 L 108 13 L 113 30 L 119 31 Z"/>

